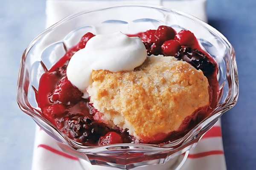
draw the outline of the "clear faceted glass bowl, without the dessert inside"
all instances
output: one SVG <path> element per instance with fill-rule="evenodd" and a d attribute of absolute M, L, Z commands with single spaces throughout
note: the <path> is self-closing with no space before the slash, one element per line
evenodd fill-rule
<path fill-rule="evenodd" d="M 201 47 L 218 63 L 221 95 L 215 110 L 182 138 L 169 144 L 111 144 L 84 146 L 67 138 L 57 127 L 41 116 L 35 99 L 40 77 L 54 65 L 87 32 L 106 34 L 122 31 L 135 34 L 160 25 L 172 26 L 178 32 L 192 31 Z M 64 151 L 91 164 L 131 169 L 148 164 L 163 164 L 195 147 L 201 136 L 220 116 L 232 108 L 238 98 L 239 83 L 236 57 L 227 39 L 207 23 L 180 11 L 159 6 L 126 5 L 73 14 L 49 27 L 33 40 L 23 53 L 17 84 L 20 109 L 32 117 Z"/>

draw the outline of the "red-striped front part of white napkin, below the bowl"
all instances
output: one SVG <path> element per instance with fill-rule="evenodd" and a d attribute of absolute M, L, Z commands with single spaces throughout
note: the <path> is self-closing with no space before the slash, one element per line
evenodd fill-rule
<path fill-rule="evenodd" d="M 226 170 L 220 125 L 220 121 L 218 121 L 202 137 L 196 147 L 189 151 L 188 158 L 180 170 Z M 82 168 L 81 163 L 86 165 L 85 168 Z M 168 164 L 168 162 L 166 164 Z M 165 165 L 160 165 L 160 167 L 161 166 Z M 160 169 L 160 167 L 147 167 L 146 169 L 155 170 Z M 37 126 L 32 170 L 84 169 L 113 170 L 113 168 L 90 165 L 90 163 L 85 161 L 81 162 L 78 158 L 64 153 L 58 146 L 57 141 Z M 140 169 L 136 168 L 136 170 Z M 145 167 L 143 170 L 145 170 Z M 166 170 L 168 170 L 168 168 Z"/>

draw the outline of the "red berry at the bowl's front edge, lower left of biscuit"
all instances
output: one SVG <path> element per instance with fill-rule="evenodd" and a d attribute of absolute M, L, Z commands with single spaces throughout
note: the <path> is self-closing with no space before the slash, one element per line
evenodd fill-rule
<path fill-rule="evenodd" d="M 116 132 L 108 132 L 105 136 L 102 136 L 99 139 L 100 145 L 118 144 L 122 142 L 121 136 Z"/>

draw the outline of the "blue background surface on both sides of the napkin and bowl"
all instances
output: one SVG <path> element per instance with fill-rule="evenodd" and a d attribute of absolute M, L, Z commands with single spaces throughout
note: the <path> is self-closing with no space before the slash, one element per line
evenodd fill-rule
<path fill-rule="evenodd" d="M 230 41 L 239 100 L 222 116 L 228 170 L 256 169 L 256 0 L 208 0 L 209 24 Z M 45 0 L 0 0 L 0 169 L 31 169 L 35 123 L 16 102 L 24 49 L 45 28 Z"/>

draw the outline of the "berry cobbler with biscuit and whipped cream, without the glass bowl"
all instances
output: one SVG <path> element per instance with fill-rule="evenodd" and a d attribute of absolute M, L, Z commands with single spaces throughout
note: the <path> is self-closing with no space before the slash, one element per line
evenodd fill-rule
<path fill-rule="evenodd" d="M 81 144 L 166 144 L 217 105 L 218 66 L 187 30 L 85 34 L 42 75 L 42 116 Z"/>

